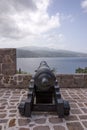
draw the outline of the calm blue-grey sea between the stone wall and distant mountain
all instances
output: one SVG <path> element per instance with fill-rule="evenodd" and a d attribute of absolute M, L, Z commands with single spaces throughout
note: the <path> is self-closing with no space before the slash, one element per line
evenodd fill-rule
<path fill-rule="evenodd" d="M 79 67 L 87 67 L 87 57 L 17 58 L 17 70 L 34 74 L 41 61 L 46 61 L 56 74 L 75 74 Z"/>

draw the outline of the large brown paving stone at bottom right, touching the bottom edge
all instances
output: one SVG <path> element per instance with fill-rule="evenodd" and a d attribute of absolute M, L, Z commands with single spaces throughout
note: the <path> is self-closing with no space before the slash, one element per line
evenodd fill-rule
<path fill-rule="evenodd" d="M 69 130 L 84 130 L 80 122 L 67 123 L 67 127 Z"/>

